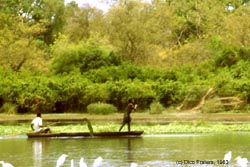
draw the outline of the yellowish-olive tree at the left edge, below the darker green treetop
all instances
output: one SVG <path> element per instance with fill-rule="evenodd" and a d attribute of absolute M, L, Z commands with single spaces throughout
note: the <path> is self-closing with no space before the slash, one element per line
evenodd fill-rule
<path fill-rule="evenodd" d="M 36 39 L 43 31 L 42 24 L 29 26 L 20 16 L 0 13 L 0 64 L 14 71 L 45 68 L 45 52 Z"/>

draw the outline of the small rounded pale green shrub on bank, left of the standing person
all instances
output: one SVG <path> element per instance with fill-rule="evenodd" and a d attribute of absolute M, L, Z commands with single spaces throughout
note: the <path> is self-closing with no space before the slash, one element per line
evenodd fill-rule
<path fill-rule="evenodd" d="M 92 103 L 87 106 L 89 114 L 102 114 L 108 115 L 117 112 L 117 108 L 112 104 L 107 103 Z"/>

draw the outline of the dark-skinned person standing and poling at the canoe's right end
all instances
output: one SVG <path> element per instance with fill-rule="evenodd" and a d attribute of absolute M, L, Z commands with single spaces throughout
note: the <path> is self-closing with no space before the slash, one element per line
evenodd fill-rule
<path fill-rule="evenodd" d="M 130 122 L 131 122 L 130 114 L 136 108 L 137 108 L 137 104 L 135 104 L 134 99 L 133 100 L 130 99 L 129 103 L 128 103 L 128 106 L 127 106 L 126 110 L 124 111 L 122 126 L 120 127 L 119 132 L 122 130 L 122 128 L 126 124 L 128 124 L 128 131 L 130 132 Z"/>

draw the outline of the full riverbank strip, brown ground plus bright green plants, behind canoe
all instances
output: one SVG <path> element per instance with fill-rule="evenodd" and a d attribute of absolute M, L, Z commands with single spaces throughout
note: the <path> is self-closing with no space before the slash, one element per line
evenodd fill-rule
<path fill-rule="evenodd" d="M 250 114 L 195 114 L 171 113 L 150 115 L 132 114 L 132 130 L 143 130 L 144 134 L 186 134 L 250 132 Z M 22 135 L 31 132 L 30 121 L 34 115 L 0 115 L 1 135 Z M 44 124 L 53 132 L 88 132 L 85 118 L 92 123 L 95 132 L 118 131 L 122 114 L 44 114 Z M 124 130 L 126 130 L 126 126 Z"/>

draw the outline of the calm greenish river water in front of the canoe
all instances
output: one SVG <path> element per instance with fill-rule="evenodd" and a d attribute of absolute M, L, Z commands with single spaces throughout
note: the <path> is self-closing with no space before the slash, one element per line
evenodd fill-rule
<path fill-rule="evenodd" d="M 223 166 L 218 165 L 228 151 L 250 159 L 250 133 L 198 135 L 144 135 L 139 138 L 50 138 L 28 139 L 25 136 L 0 137 L 0 160 L 15 167 L 55 167 L 57 158 L 69 157 L 65 167 L 74 159 L 75 167 L 81 157 L 88 166 L 102 156 L 103 167 L 128 167 L 136 162 L 143 167 Z M 213 165 L 188 164 L 196 160 L 213 161 Z M 233 161 L 235 163 L 235 161 Z M 230 165 L 234 166 L 234 165 Z"/>

